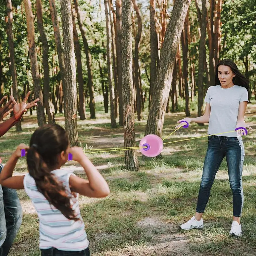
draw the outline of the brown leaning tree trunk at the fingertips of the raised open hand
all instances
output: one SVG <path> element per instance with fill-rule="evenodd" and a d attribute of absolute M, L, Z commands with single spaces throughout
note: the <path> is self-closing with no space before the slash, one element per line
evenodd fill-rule
<path fill-rule="evenodd" d="M 45 114 L 44 114 L 44 99 L 43 92 L 40 84 L 40 75 L 37 62 L 36 54 L 36 44 L 35 44 L 35 26 L 34 26 L 34 16 L 32 12 L 32 6 L 30 0 L 24 0 L 25 12 L 27 17 L 27 30 L 28 30 L 28 46 L 29 46 L 29 56 L 31 60 L 31 73 L 34 84 L 35 97 L 40 100 L 37 102 L 36 116 L 38 126 L 46 124 Z"/>

